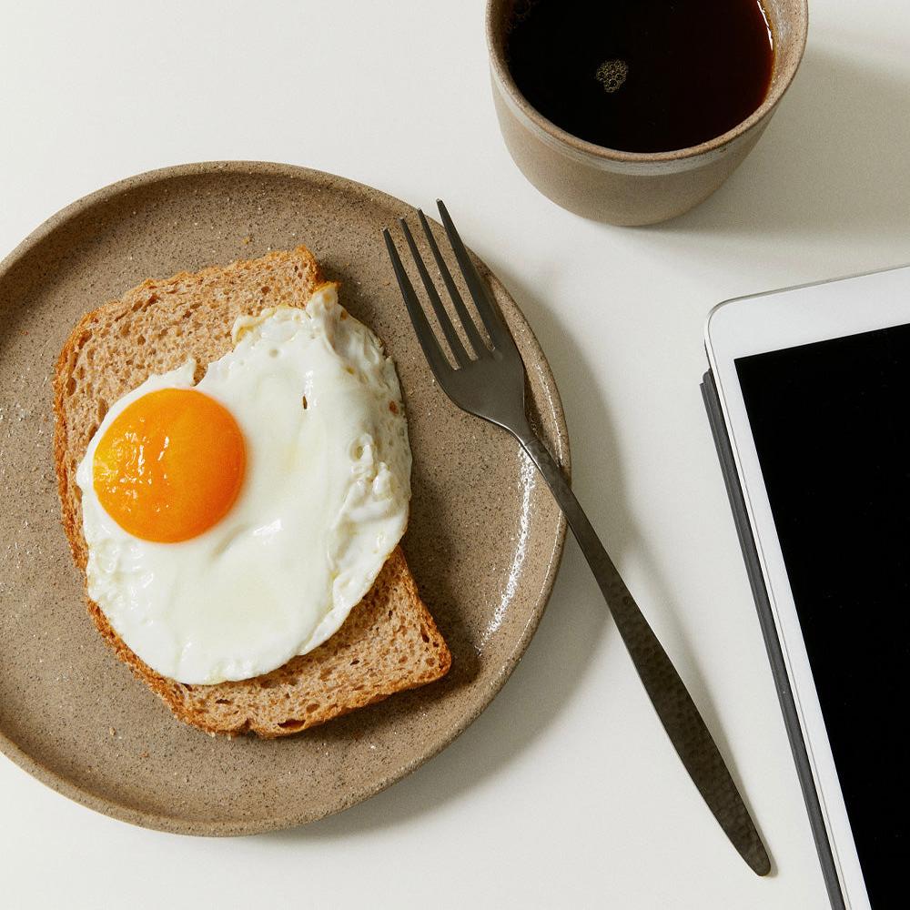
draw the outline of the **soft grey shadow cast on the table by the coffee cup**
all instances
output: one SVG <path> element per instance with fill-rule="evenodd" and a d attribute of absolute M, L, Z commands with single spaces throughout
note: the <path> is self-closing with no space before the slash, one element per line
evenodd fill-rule
<path fill-rule="evenodd" d="M 742 167 L 701 206 L 646 229 L 796 238 L 905 234 L 910 84 L 875 61 L 810 43 Z"/>

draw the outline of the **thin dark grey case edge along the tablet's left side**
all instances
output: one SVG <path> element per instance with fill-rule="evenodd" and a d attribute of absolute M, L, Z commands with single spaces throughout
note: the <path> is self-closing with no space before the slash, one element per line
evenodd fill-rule
<path fill-rule="evenodd" d="M 711 433 L 714 438 L 714 445 L 717 448 L 717 456 L 721 462 L 723 485 L 727 488 L 727 496 L 730 499 L 730 507 L 733 510 L 736 536 L 739 538 L 740 547 L 743 550 L 743 560 L 749 576 L 749 584 L 752 588 L 755 606 L 758 608 L 758 620 L 762 626 L 764 644 L 768 650 L 768 658 L 771 661 L 771 672 L 777 687 L 777 697 L 780 699 L 781 709 L 784 712 L 784 724 L 787 730 L 787 737 L 790 740 L 790 748 L 794 753 L 796 772 L 799 774 L 800 784 L 803 787 L 805 805 L 809 813 L 809 824 L 812 827 L 815 847 L 818 850 L 818 859 L 822 864 L 824 884 L 828 889 L 828 897 L 834 910 L 845 910 L 844 895 L 837 879 L 831 844 L 828 842 L 828 835 L 824 829 L 822 807 L 815 791 L 812 770 L 809 767 L 809 756 L 806 753 L 803 733 L 796 715 L 793 690 L 790 688 L 790 680 L 784 665 L 784 653 L 781 650 L 781 642 L 777 637 L 777 629 L 771 612 L 771 602 L 768 599 L 762 567 L 758 561 L 758 551 L 755 548 L 752 528 L 749 525 L 749 517 L 745 509 L 743 489 L 740 486 L 739 475 L 736 473 L 736 464 L 733 461 L 733 448 L 730 444 L 730 437 L 727 435 L 726 425 L 723 421 L 723 411 L 721 410 L 721 400 L 717 395 L 717 386 L 714 383 L 710 369 L 704 374 L 702 379 L 702 397 L 704 399 L 704 407 L 708 411 L 708 422 L 711 424 Z"/>

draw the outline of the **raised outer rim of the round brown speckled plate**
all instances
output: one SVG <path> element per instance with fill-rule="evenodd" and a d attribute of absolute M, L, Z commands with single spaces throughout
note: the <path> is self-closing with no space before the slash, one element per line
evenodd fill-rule
<path fill-rule="evenodd" d="M 211 160 L 190 162 L 180 165 L 171 165 L 168 167 L 157 167 L 152 170 L 142 171 L 141 173 L 124 177 L 113 183 L 100 187 L 86 196 L 79 197 L 65 207 L 56 211 L 50 217 L 45 218 L 41 224 L 35 227 L 24 239 L 22 239 L 2 260 L 0 260 L 0 278 L 15 267 L 25 256 L 27 256 L 35 247 L 48 238 L 58 228 L 63 227 L 66 223 L 75 217 L 84 214 L 90 208 L 104 204 L 111 199 L 120 196 L 131 190 L 140 187 L 151 186 L 158 182 L 172 180 L 176 177 L 205 177 L 213 174 L 229 173 L 237 175 L 255 176 L 255 177 L 292 177 L 304 180 L 325 180 L 327 177 L 333 182 L 343 185 L 343 188 L 369 197 L 380 204 L 389 205 L 390 207 L 399 207 L 401 205 L 410 205 L 399 197 L 394 197 L 389 193 L 371 187 L 368 184 L 359 183 L 349 177 L 342 177 L 329 171 L 319 170 L 312 167 L 302 167 L 299 165 L 286 164 L 274 161 L 258 160 Z M 470 248 L 469 248 L 470 249 Z M 540 341 L 534 334 L 531 325 L 525 318 L 521 308 L 512 298 L 511 293 L 502 284 L 501 280 L 495 273 L 486 266 L 485 263 L 470 250 L 475 259 L 477 259 L 486 271 L 487 278 L 501 291 L 501 296 L 506 298 L 511 307 L 514 308 L 515 316 L 523 323 L 523 328 L 527 332 L 527 342 L 531 347 L 537 369 L 543 384 L 547 389 L 548 398 L 551 403 L 553 417 L 555 422 L 555 444 L 557 447 L 557 456 L 561 460 L 564 470 L 571 472 L 571 454 L 569 443 L 569 430 L 566 425 L 565 411 L 562 408 L 559 389 L 556 385 L 556 379 L 553 376 L 552 369 L 546 355 L 541 348 Z M 230 821 L 215 821 L 201 819 L 187 819 L 178 815 L 159 814 L 150 810 L 136 809 L 133 806 L 118 802 L 116 799 L 98 794 L 85 786 L 74 783 L 65 774 L 59 773 L 45 764 L 35 759 L 25 750 L 6 735 L 5 731 L 0 728 L 0 753 L 4 754 L 10 761 L 18 765 L 23 771 L 30 774 L 41 784 L 45 784 L 56 793 L 66 796 L 73 802 L 84 805 L 86 808 L 93 809 L 100 814 L 109 818 L 114 818 L 121 822 L 134 824 L 157 831 L 164 831 L 171 834 L 190 834 L 197 836 L 238 836 L 248 834 L 261 834 L 268 831 L 277 831 L 287 828 L 298 827 L 311 822 L 319 821 L 321 818 L 338 814 L 353 805 L 362 803 L 376 794 L 381 793 L 392 784 L 396 784 L 408 774 L 416 771 L 422 764 L 429 762 L 451 743 L 453 743 L 461 733 L 474 723 L 483 711 L 485 711 L 493 699 L 501 692 L 502 686 L 508 681 L 511 673 L 521 661 L 521 657 L 527 650 L 528 645 L 534 633 L 540 625 L 543 613 L 546 611 L 550 601 L 553 586 L 558 574 L 563 550 L 565 547 L 567 525 L 565 516 L 560 513 L 557 519 L 557 529 L 550 559 L 547 563 L 546 571 L 543 577 L 540 595 L 537 598 L 529 621 L 525 624 L 514 649 L 508 655 L 506 660 L 495 672 L 490 685 L 482 693 L 478 703 L 476 703 L 467 713 L 460 723 L 452 725 L 440 737 L 440 740 L 426 750 L 416 754 L 409 762 L 398 765 L 389 773 L 383 775 L 379 781 L 371 786 L 359 790 L 356 794 L 344 794 L 334 801 L 331 808 L 327 811 L 318 811 L 315 813 L 295 812 L 285 815 L 273 814 L 268 819 L 253 819 L 245 821 L 242 819 Z"/>

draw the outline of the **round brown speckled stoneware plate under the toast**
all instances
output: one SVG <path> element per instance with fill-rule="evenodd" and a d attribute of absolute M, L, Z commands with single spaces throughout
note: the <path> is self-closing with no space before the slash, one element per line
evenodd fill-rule
<path fill-rule="evenodd" d="M 303 824 L 378 793 L 438 753 L 521 658 L 565 526 L 517 444 L 433 384 L 379 233 L 411 211 L 299 167 L 170 167 L 81 199 L 0 264 L 0 749 L 59 793 L 186 834 Z M 286 740 L 212 739 L 174 720 L 86 615 L 59 525 L 50 380 L 87 309 L 144 278 L 298 243 L 343 282 L 342 302 L 398 364 L 414 453 L 404 548 L 450 644 L 452 669 Z M 508 292 L 484 273 L 528 368 L 539 426 L 567 464 L 550 369 Z"/>

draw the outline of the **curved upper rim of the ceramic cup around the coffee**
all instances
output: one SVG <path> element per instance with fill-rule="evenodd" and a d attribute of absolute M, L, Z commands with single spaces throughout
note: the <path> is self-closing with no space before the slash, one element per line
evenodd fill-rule
<path fill-rule="evenodd" d="M 759 123 L 765 116 L 768 116 L 777 106 L 777 103 L 784 97 L 786 90 L 794 80 L 796 71 L 799 69 L 805 53 L 806 38 L 809 34 L 809 2 L 808 0 L 798 0 L 799 13 L 796 15 L 794 22 L 798 30 L 794 30 L 794 38 L 799 47 L 798 53 L 790 57 L 791 63 L 777 80 L 777 85 L 772 86 L 771 90 L 764 100 L 755 110 L 741 120 L 738 124 L 728 129 L 720 136 L 713 136 L 710 139 L 699 143 L 697 146 L 686 146 L 683 148 L 674 148 L 664 152 L 626 152 L 619 148 L 610 148 L 599 146 L 596 143 L 588 142 L 578 136 L 556 126 L 549 118 L 543 116 L 541 112 L 531 104 L 531 102 L 521 93 L 512 78 L 509 67 L 505 61 L 504 42 L 497 42 L 495 38 L 495 29 L 493 23 L 493 14 L 499 13 L 502 5 L 506 0 L 487 0 L 487 9 L 485 15 L 485 27 L 487 34 L 487 53 L 490 56 L 490 64 L 493 72 L 499 80 L 500 86 L 510 97 L 511 102 L 517 106 L 524 116 L 528 117 L 532 124 L 543 130 L 548 136 L 551 136 L 562 145 L 574 148 L 585 155 L 595 157 L 604 162 L 618 161 L 629 164 L 642 163 L 654 164 L 657 162 L 681 161 L 687 158 L 694 158 L 713 152 L 719 148 L 729 145 L 734 139 L 743 136 L 752 129 L 755 124 Z M 772 26 L 773 27 L 773 26 Z M 504 30 L 503 30 L 504 34 Z"/>

